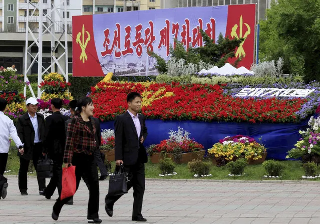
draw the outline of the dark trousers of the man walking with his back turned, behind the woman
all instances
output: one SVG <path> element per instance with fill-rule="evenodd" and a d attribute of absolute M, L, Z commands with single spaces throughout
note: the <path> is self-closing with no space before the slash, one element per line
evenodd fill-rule
<path fill-rule="evenodd" d="M 64 154 L 50 154 L 50 159 L 53 160 L 53 177 L 50 179 L 50 182 L 46 188 L 46 197 L 51 197 L 56 188 L 58 189 L 59 197 L 61 196 L 61 180 L 62 180 L 62 164 L 63 164 Z"/>

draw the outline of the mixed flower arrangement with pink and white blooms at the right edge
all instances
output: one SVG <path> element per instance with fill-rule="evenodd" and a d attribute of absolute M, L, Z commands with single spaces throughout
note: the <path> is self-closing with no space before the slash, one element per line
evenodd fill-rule
<path fill-rule="evenodd" d="M 295 147 L 287 152 L 286 158 L 299 159 L 303 162 L 320 164 L 320 117 L 313 116 L 308 121 L 310 128 L 299 131 L 302 138 L 297 141 Z"/>

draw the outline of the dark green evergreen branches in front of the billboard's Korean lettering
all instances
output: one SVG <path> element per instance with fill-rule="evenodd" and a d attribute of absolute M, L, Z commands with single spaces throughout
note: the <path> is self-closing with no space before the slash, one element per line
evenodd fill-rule
<path fill-rule="evenodd" d="M 244 40 L 243 38 L 223 38 L 220 33 L 217 43 L 214 43 L 203 30 L 200 30 L 200 32 L 203 37 L 204 46 L 197 48 L 189 47 L 188 50 L 186 50 L 184 45 L 175 39 L 175 48 L 170 46 L 170 57 L 177 61 L 184 59 L 185 64 L 198 64 L 200 61 L 203 61 L 221 67 L 229 58 L 235 56 L 236 48 L 239 47 L 240 43 Z M 154 52 L 148 53 L 157 59 L 155 67 L 158 71 L 165 73 L 167 71 L 167 62 L 165 59 Z M 233 65 L 237 65 L 240 60 L 241 58 L 237 59 Z"/>

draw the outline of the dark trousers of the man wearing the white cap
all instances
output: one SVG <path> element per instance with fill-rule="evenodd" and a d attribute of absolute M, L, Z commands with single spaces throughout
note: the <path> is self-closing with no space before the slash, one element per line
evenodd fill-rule
<path fill-rule="evenodd" d="M 38 160 L 42 158 L 42 143 L 36 143 L 33 149 L 32 161 L 37 171 Z M 18 185 L 20 192 L 26 192 L 28 190 L 27 184 L 27 173 L 29 168 L 30 160 L 26 160 L 20 157 L 20 169 L 18 176 Z M 37 178 L 39 191 L 43 191 L 46 188 L 46 179 L 45 178 Z"/>

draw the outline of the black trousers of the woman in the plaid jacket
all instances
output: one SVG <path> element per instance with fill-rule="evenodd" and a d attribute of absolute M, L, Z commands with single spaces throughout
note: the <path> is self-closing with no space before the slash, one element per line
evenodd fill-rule
<path fill-rule="evenodd" d="M 99 178 L 96 161 L 93 155 L 86 155 L 83 153 L 74 153 L 72 158 L 72 165 L 76 166 L 77 189 L 79 188 L 80 180 L 85 175 L 89 185 L 89 202 L 88 202 L 88 220 L 99 218 Z M 72 197 L 60 200 L 58 198 L 53 210 L 59 215 L 62 207 Z"/>

